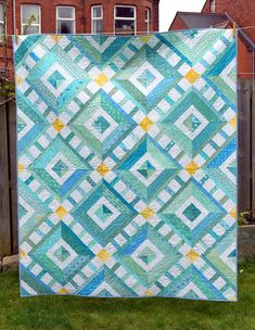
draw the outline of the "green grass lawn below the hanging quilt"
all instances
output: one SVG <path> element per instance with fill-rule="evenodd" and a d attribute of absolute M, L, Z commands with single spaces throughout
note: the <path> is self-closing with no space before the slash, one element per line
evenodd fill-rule
<path fill-rule="evenodd" d="M 0 330 L 255 330 L 255 262 L 239 276 L 239 303 L 175 299 L 18 297 L 17 274 L 0 275 Z"/>

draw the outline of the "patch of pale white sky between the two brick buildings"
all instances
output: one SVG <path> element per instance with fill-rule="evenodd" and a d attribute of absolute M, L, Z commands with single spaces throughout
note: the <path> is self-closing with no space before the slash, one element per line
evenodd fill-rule
<path fill-rule="evenodd" d="M 167 31 L 176 12 L 200 12 L 205 0 L 161 0 L 160 30 Z"/>

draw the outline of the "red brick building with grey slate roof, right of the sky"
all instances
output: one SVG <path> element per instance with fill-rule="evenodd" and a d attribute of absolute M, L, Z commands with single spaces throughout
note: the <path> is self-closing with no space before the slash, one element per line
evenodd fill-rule
<path fill-rule="evenodd" d="M 201 13 L 177 12 L 169 29 L 232 28 L 254 25 L 254 0 L 206 0 Z M 255 29 L 239 30 L 239 77 L 255 77 Z"/>

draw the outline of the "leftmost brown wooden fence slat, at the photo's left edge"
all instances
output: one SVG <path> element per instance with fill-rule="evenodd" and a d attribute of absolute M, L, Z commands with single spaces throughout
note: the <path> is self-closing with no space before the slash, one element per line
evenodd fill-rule
<path fill-rule="evenodd" d="M 10 255 L 11 218 L 9 194 L 8 120 L 7 106 L 0 106 L 0 255 Z"/>

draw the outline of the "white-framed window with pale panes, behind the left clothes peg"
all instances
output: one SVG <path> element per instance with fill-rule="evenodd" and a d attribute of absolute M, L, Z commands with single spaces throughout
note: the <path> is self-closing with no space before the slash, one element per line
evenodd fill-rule
<path fill-rule="evenodd" d="M 41 33 L 40 5 L 22 4 L 22 34 L 34 35 Z"/>

